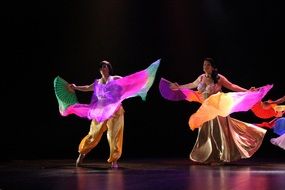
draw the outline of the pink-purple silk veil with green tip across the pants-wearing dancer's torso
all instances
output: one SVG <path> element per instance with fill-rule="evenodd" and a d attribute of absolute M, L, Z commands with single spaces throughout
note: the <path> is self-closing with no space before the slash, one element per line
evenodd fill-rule
<path fill-rule="evenodd" d="M 110 81 L 107 84 L 95 84 L 90 104 L 72 104 L 64 110 L 62 115 L 75 114 L 79 117 L 103 122 L 114 114 L 125 99 L 140 96 L 145 101 L 159 64 L 160 59 L 139 72 Z"/>

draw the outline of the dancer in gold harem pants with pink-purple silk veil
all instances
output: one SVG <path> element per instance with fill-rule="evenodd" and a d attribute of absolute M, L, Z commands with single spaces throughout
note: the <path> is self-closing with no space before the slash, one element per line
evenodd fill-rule
<path fill-rule="evenodd" d="M 112 168 L 118 168 L 118 159 L 122 154 L 124 108 L 122 101 L 140 96 L 143 100 L 152 86 L 160 60 L 152 63 L 145 70 L 121 77 L 112 74 L 112 66 L 108 61 L 100 63 L 101 78 L 95 79 L 90 85 L 78 86 L 69 84 L 69 91 L 93 91 L 90 104 L 81 104 L 76 101 L 66 105 L 64 99 L 58 98 L 59 111 L 62 116 L 75 114 L 79 117 L 91 120 L 89 133 L 79 144 L 79 156 L 76 166 L 79 166 L 83 158 L 97 146 L 105 131 L 110 147 L 110 156 L 107 162 Z"/>

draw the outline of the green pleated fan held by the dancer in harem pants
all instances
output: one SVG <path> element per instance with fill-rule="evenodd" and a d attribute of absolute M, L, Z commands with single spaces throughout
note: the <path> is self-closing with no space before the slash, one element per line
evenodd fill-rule
<path fill-rule="evenodd" d="M 63 114 L 68 106 L 78 103 L 78 100 L 74 90 L 69 88 L 69 83 L 60 76 L 55 77 L 53 84 L 59 112 Z"/>

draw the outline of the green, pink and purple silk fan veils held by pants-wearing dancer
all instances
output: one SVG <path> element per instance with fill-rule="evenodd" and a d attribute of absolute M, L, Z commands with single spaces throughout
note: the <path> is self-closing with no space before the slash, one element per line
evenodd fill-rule
<path fill-rule="evenodd" d="M 75 114 L 89 120 L 103 122 L 116 112 L 122 101 L 135 96 L 146 100 L 148 90 L 153 84 L 160 59 L 144 70 L 137 71 L 122 78 L 111 80 L 106 84 L 93 83 L 93 95 L 89 104 L 77 101 L 74 90 L 60 77 L 54 80 L 55 94 L 62 116 Z"/>

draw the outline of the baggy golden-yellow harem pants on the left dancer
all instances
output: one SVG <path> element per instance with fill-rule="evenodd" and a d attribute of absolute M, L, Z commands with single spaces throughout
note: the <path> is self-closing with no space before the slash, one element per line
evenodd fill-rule
<path fill-rule="evenodd" d="M 107 130 L 107 139 L 110 147 L 110 156 L 107 162 L 117 161 L 122 155 L 123 131 L 124 131 L 124 109 L 119 107 L 114 115 L 101 123 L 92 120 L 88 135 L 79 144 L 78 152 L 86 155 L 101 140 L 103 133 Z"/>

